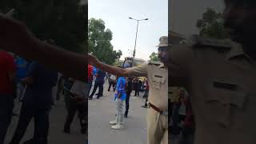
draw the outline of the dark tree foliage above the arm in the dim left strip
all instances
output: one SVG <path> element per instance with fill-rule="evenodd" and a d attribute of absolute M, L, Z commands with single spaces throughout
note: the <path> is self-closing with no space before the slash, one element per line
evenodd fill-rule
<path fill-rule="evenodd" d="M 86 52 L 87 6 L 80 0 L 1 0 L 0 11 L 15 9 L 14 18 L 24 22 L 38 38 L 54 39 L 58 46 Z"/>

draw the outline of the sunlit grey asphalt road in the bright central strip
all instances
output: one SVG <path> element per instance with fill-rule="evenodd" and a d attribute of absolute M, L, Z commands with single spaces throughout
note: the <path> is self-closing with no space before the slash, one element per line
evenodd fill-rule
<path fill-rule="evenodd" d="M 145 102 L 143 92 L 140 97 L 134 97 L 134 92 L 131 94 L 124 129 L 112 130 L 109 122 L 114 120 L 114 92 L 108 92 L 107 86 L 105 84 L 103 97 L 89 101 L 89 144 L 146 144 L 146 109 L 141 107 Z"/>

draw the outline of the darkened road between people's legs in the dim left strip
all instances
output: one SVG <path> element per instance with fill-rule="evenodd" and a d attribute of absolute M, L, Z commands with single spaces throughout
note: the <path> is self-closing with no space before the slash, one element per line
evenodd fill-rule
<path fill-rule="evenodd" d="M 16 106 L 14 108 L 15 113 L 19 113 L 21 102 L 15 102 Z M 78 117 L 74 118 L 74 122 L 71 126 L 70 134 L 62 133 L 64 122 L 66 119 L 66 108 L 63 98 L 56 102 L 55 106 L 50 112 L 50 131 L 49 131 L 49 144 L 85 144 L 86 136 L 80 134 L 80 127 L 78 122 Z M 14 130 L 18 123 L 18 117 L 13 117 L 10 124 L 8 133 L 6 134 L 6 144 L 10 142 Z M 34 133 L 34 122 L 30 122 L 30 126 L 26 130 L 26 134 L 22 139 L 22 142 L 33 137 Z M 22 143 L 21 142 L 21 143 Z"/>

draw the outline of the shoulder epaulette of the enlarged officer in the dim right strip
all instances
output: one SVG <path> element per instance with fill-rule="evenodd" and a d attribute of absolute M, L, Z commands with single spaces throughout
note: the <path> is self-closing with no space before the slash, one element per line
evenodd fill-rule
<path fill-rule="evenodd" d="M 217 48 L 217 49 L 230 49 L 232 44 L 228 39 L 214 39 L 214 38 L 200 38 L 198 35 L 190 37 L 190 45 L 194 48 Z"/>

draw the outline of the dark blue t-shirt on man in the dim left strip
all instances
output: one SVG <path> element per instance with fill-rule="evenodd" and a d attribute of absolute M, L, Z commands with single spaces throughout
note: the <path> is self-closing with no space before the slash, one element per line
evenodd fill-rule
<path fill-rule="evenodd" d="M 26 77 L 34 78 L 34 83 L 26 88 L 24 102 L 39 108 L 50 108 L 52 104 L 52 88 L 58 81 L 58 73 L 47 70 L 38 62 L 31 62 Z"/>

